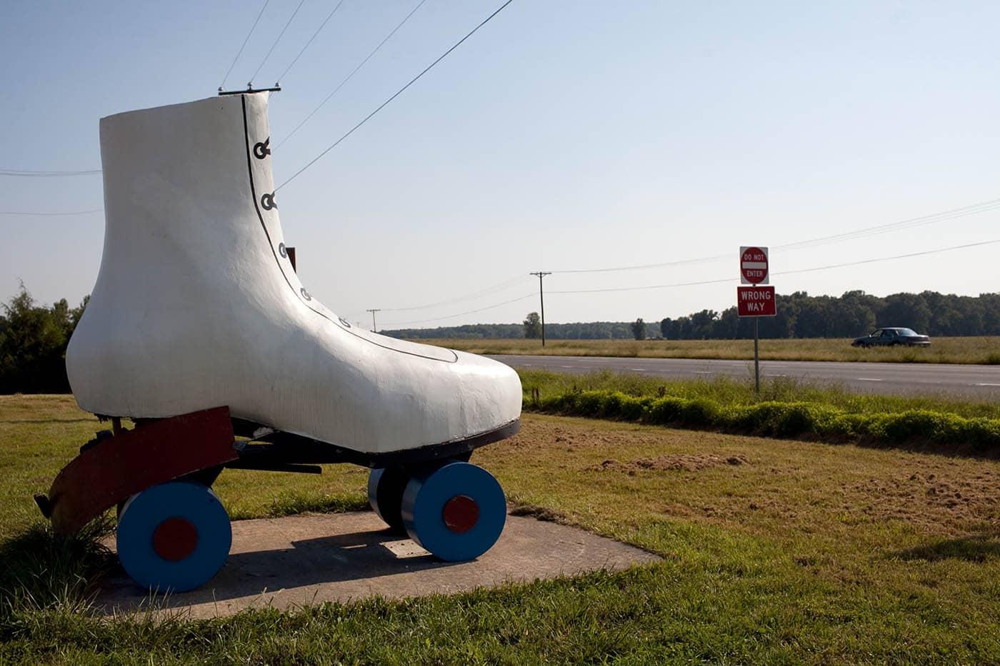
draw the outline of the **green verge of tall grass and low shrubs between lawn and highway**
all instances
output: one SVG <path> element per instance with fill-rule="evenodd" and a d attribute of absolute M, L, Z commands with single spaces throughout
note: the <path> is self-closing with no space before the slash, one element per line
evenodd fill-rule
<path fill-rule="evenodd" d="M 1000 406 L 947 397 L 852 394 L 770 378 L 758 397 L 749 380 L 663 380 L 598 371 L 520 371 L 524 406 L 566 416 L 635 421 L 729 433 L 800 437 L 942 452 L 1000 453 Z"/>

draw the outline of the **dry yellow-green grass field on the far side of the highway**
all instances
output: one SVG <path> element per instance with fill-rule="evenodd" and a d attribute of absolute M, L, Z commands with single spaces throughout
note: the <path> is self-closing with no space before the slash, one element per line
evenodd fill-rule
<path fill-rule="evenodd" d="M 753 359 L 753 340 L 429 339 L 426 344 L 474 354 L 548 354 L 645 358 Z M 934 338 L 928 348 L 856 349 L 846 339 L 761 340 L 760 358 L 772 361 L 1000 364 L 1000 337 Z"/>

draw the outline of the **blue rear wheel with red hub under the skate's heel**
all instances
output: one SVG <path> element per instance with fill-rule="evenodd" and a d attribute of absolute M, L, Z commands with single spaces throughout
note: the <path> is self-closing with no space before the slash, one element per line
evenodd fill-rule
<path fill-rule="evenodd" d="M 229 556 L 229 515 L 212 489 L 173 481 L 133 495 L 118 519 L 118 559 L 140 586 L 184 592 L 212 578 Z"/>

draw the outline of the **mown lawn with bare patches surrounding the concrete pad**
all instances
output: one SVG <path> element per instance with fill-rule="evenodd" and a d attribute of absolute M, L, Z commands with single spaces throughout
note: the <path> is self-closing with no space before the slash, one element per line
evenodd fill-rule
<path fill-rule="evenodd" d="M 995 460 L 525 414 L 473 457 L 516 510 L 662 563 L 285 614 L 96 619 L 76 600 L 113 561 L 53 542 L 31 494 L 99 427 L 69 396 L 0 397 L 0 662 L 1000 661 Z M 365 479 L 230 470 L 216 487 L 251 517 L 358 509 Z"/>

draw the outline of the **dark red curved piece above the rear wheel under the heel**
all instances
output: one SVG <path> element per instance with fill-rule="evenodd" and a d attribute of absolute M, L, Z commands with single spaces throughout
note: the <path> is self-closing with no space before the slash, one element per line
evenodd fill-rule
<path fill-rule="evenodd" d="M 72 534 L 135 493 L 235 460 L 233 439 L 228 407 L 160 419 L 87 448 L 35 501 L 57 534 Z"/>

